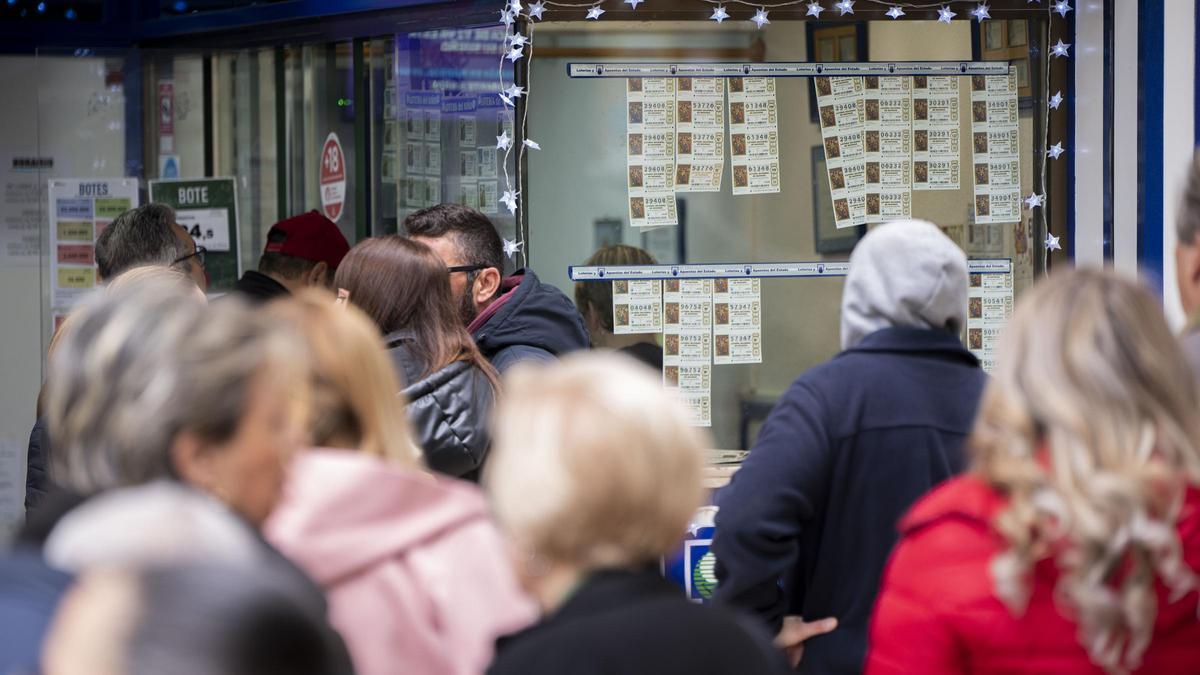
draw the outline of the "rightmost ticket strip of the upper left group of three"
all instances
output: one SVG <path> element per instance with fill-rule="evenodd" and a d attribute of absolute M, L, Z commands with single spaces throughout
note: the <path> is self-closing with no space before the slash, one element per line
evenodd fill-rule
<path fill-rule="evenodd" d="M 730 94 L 730 167 L 734 195 L 780 191 L 779 109 L 775 79 L 726 78 Z"/>

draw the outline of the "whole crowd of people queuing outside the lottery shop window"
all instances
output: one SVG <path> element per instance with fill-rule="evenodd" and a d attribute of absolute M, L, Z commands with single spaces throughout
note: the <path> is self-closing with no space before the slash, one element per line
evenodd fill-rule
<path fill-rule="evenodd" d="M 1200 159 L 1178 235 L 1196 312 Z M 1022 294 L 989 377 L 962 251 L 872 228 L 841 352 L 708 495 L 660 347 L 606 283 L 506 275 L 472 209 L 355 246 L 287 219 L 212 299 L 158 204 L 96 261 L 0 556 L 6 675 L 1200 673 L 1200 331 L 1115 274 Z M 661 566 L 708 502 L 701 605 Z"/>

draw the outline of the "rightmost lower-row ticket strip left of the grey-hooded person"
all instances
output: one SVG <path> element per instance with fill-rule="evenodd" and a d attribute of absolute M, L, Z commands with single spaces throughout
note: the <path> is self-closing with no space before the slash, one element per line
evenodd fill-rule
<path fill-rule="evenodd" d="M 713 281 L 713 363 L 762 363 L 762 282 Z"/>

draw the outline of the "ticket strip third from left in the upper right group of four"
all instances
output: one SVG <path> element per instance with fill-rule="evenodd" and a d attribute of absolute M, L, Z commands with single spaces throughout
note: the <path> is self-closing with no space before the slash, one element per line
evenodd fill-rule
<path fill-rule="evenodd" d="M 960 185 L 959 78 L 912 78 L 912 189 Z"/>

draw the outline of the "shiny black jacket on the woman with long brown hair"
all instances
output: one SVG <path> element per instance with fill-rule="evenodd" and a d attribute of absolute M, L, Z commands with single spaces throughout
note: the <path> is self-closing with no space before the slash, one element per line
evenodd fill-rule
<path fill-rule="evenodd" d="M 491 447 L 492 383 L 482 370 L 466 362 L 422 377 L 426 366 L 409 348 L 410 333 L 391 333 L 385 341 L 396 375 L 406 384 L 402 393 L 408 400 L 408 419 L 426 464 L 442 473 L 478 480 Z"/>

